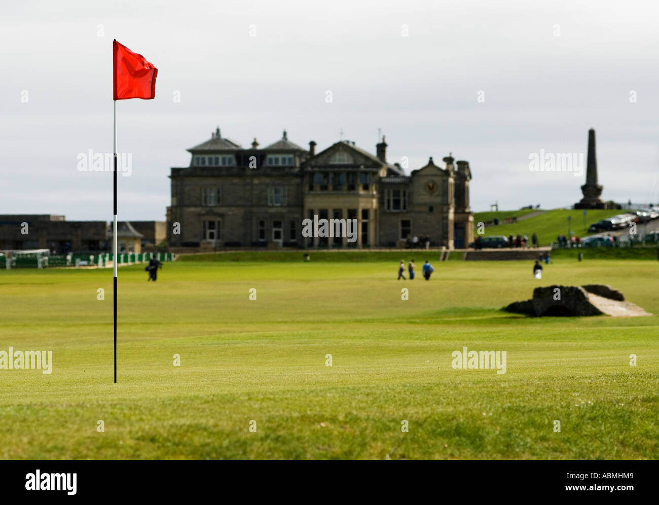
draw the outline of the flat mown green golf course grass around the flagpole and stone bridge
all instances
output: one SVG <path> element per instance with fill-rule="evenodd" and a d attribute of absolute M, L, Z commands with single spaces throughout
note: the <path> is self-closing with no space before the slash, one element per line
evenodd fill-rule
<path fill-rule="evenodd" d="M 313 253 L 120 268 L 117 384 L 111 270 L 1 272 L 0 350 L 51 350 L 53 371 L 0 370 L 0 458 L 659 458 L 659 316 L 500 311 L 604 283 L 659 314 L 658 262 L 559 258 L 537 281 L 429 258 L 426 282 L 424 259 L 404 282 Z M 453 369 L 465 346 L 506 351 L 505 374 Z"/>

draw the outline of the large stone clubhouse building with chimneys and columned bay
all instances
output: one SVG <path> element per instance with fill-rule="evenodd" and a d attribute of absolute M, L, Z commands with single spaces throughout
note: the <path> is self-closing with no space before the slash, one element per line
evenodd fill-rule
<path fill-rule="evenodd" d="M 188 149 L 190 166 L 171 169 L 169 247 L 406 247 L 413 237 L 430 247 L 461 249 L 473 237 L 469 162 L 445 167 L 432 158 L 405 175 L 388 163 L 384 136 L 376 154 L 341 140 L 321 152 L 282 138 L 260 148 L 221 136 Z M 302 223 L 357 220 L 356 241 L 306 237 Z"/>

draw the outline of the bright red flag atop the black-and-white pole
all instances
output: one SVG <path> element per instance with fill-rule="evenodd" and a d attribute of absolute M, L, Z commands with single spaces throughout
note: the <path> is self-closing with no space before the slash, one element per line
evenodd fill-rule
<path fill-rule="evenodd" d="M 156 76 L 158 69 L 153 63 L 138 53 L 133 53 L 128 47 L 112 43 L 112 63 L 114 71 L 113 100 L 128 100 L 129 98 L 156 98 Z"/>

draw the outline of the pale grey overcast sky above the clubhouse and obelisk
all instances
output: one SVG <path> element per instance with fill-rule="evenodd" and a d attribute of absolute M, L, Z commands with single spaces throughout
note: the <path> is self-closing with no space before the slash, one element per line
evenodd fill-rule
<path fill-rule="evenodd" d="M 113 38 L 158 67 L 155 100 L 117 104 L 120 220 L 164 220 L 170 168 L 217 125 L 318 150 L 343 130 L 370 152 L 382 129 L 408 173 L 452 152 L 476 211 L 577 202 L 585 176 L 529 156 L 585 154 L 593 127 L 602 197 L 656 203 L 658 15 L 648 0 L 5 3 L 0 214 L 111 220 L 111 172 L 76 166 L 112 152 Z"/>

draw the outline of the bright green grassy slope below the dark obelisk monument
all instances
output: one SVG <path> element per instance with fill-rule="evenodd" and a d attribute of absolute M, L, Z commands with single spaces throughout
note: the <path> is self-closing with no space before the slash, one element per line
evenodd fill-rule
<path fill-rule="evenodd" d="M 500 211 L 500 212 L 475 212 L 474 213 L 474 233 L 476 232 L 476 225 L 478 222 L 488 222 L 495 217 L 498 217 L 500 222 L 505 218 L 517 216 L 521 218 L 530 212 L 537 212 L 537 210 L 517 210 L 517 211 Z M 580 237 L 592 235 L 588 232 L 588 227 L 595 222 L 610 218 L 620 214 L 621 210 L 588 210 L 586 215 L 586 225 L 584 225 L 583 210 L 547 210 L 538 216 L 521 220 L 512 224 L 499 224 L 490 225 L 485 227 L 485 235 L 517 235 L 517 233 L 531 235 L 535 232 L 538 235 L 540 245 L 550 245 L 552 241 L 556 241 L 558 235 L 567 236 L 568 223 L 567 216 L 571 216 L 570 230 L 575 232 Z"/>

